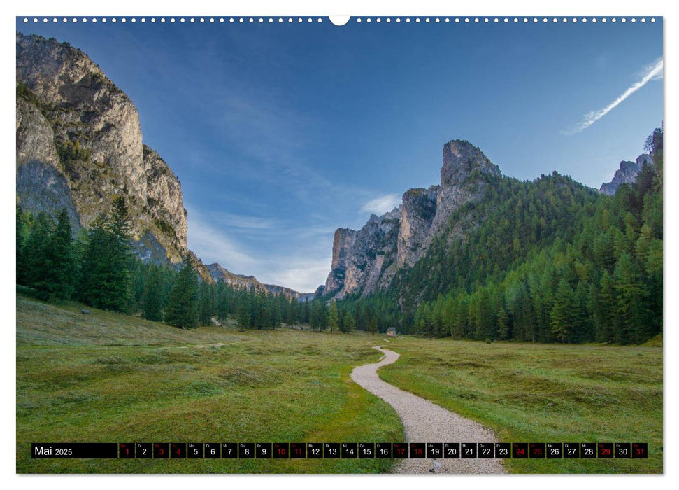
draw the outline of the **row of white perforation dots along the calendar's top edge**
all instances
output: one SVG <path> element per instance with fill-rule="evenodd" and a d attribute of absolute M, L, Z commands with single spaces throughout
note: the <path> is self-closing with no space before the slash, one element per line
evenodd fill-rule
<path fill-rule="evenodd" d="M 32 19 L 24 17 L 24 23 L 31 22 L 31 20 L 34 23 L 37 23 L 37 22 L 45 22 L 46 23 L 46 22 L 50 22 L 50 20 L 53 23 L 57 23 L 57 22 L 61 21 L 63 23 L 66 23 L 66 22 L 73 22 L 73 23 L 92 22 L 93 24 L 96 24 L 97 22 L 101 22 L 103 24 L 106 24 L 106 22 L 109 22 L 109 19 L 107 19 L 107 18 L 96 18 L 96 17 L 94 17 L 94 18 L 86 18 L 86 17 L 83 17 L 83 18 L 75 18 L 75 17 L 74 18 L 65 18 L 64 17 L 64 18 L 61 18 L 61 19 L 56 18 L 56 17 L 55 18 L 46 18 L 46 17 L 37 18 L 37 17 L 35 17 L 35 18 L 32 18 Z M 164 17 L 158 18 L 158 19 L 157 18 L 147 19 L 147 18 L 143 17 L 143 18 L 139 18 L 139 19 L 137 19 L 137 18 L 130 18 L 129 19 L 129 22 L 132 22 L 133 24 L 136 23 L 137 21 L 141 22 L 142 24 L 147 22 L 147 21 L 151 22 L 151 23 L 160 22 L 162 24 L 165 23 L 165 22 L 171 22 L 171 23 L 173 23 L 173 22 L 190 22 L 190 23 L 199 22 L 201 24 L 204 24 L 204 23 L 214 24 L 215 22 L 218 22 L 220 24 L 223 24 L 224 22 L 229 22 L 231 24 L 233 24 L 233 23 L 243 24 L 243 23 L 246 23 L 246 22 L 250 23 L 250 24 L 255 23 L 255 22 L 259 22 L 260 24 L 263 24 L 264 22 L 269 22 L 269 24 L 273 24 L 274 22 L 278 22 L 279 24 L 283 24 L 284 22 L 287 22 L 287 23 L 292 23 L 292 22 L 302 23 L 302 22 L 305 22 L 305 21 L 307 23 L 323 22 L 323 19 L 322 18 L 315 18 L 315 19 L 314 18 L 301 18 L 301 17 L 299 17 L 299 18 L 292 18 L 292 17 L 288 17 L 288 18 L 282 18 L 282 17 L 279 17 L 279 18 L 272 18 L 272 17 L 269 17 L 269 18 L 262 18 L 262 17 L 260 17 L 260 18 L 253 18 L 253 17 L 246 17 L 246 18 L 244 18 L 244 17 L 183 18 L 182 17 L 182 18 L 169 18 L 169 19 L 166 19 Z M 537 18 L 537 17 L 534 17 L 534 18 L 527 18 L 527 17 L 524 17 L 524 18 L 517 18 L 517 17 L 514 17 L 514 18 L 508 18 L 508 17 L 504 17 L 504 18 L 497 18 L 497 17 L 494 17 L 494 18 L 488 18 L 488 17 L 483 17 L 483 18 L 478 18 L 478 17 L 475 17 L 475 18 L 469 18 L 469 17 L 464 17 L 464 18 L 459 18 L 459 17 L 456 17 L 456 18 L 448 18 L 448 17 L 446 17 L 446 18 L 438 18 L 438 17 L 436 17 L 436 18 L 429 18 L 429 17 L 419 18 L 419 17 L 417 17 L 417 18 L 412 18 L 412 19 L 409 18 L 409 17 L 406 17 L 406 18 L 397 17 L 397 18 L 385 18 L 385 19 L 379 18 L 379 17 L 374 18 L 374 19 L 373 18 L 360 18 L 359 17 L 359 18 L 355 18 L 355 20 L 354 20 L 354 22 L 357 22 L 358 24 L 360 24 L 361 22 L 364 22 L 364 21 L 367 22 L 367 23 L 371 23 L 371 22 L 374 21 L 378 24 L 383 22 L 383 21 L 386 22 L 387 24 L 389 24 L 391 22 L 396 22 L 397 24 L 400 23 L 400 22 L 406 22 L 406 23 L 408 23 L 408 22 L 415 22 L 415 23 L 420 23 L 420 22 L 424 22 L 424 23 L 429 23 L 429 22 L 435 22 L 435 23 L 438 23 L 438 22 L 445 22 L 445 23 L 455 22 L 456 24 L 459 24 L 460 22 L 463 22 L 463 23 L 473 22 L 473 23 L 476 23 L 476 24 L 480 24 L 480 23 L 483 23 L 483 24 L 490 24 L 490 23 L 494 23 L 494 24 L 505 23 L 505 24 L 508 24 L 509 22 L 513 22 L 515 24 L 517 24 L 519 22 L 523 22 L 524 24 L 528 24 L 529 22 L 532 22 L 534 24 L 537 24 L 538 22 L 543 22 L 543 23 L 547 23 L 547 22 L 552 22 L 552 23 L 557 23 L 557 22 L 561 22 L 561 23 L 582 22 L 583 24 L 585 24 L 587 22 L 592 22 L 592 23 L 613 22 L 613 24 L 615 24 L 615 22 L 618 22 L 618 19 L 617 18 L 608 19 L 608 18 L 605 18 L 605 17 L 603 17 L 603 18 L 575 18 L 575 17 L 574 18 L 565 18 L 565 17 L 564 18 L 556 18 L 556 17 L 554 17 L 554 18 L 546 18 L 546 17 L 543 17 L 543 18 Z M 627 21 L 628 21 L 627 18 L 624 18 L 624 17 L 620 18 L 620 22 L 622 22 L 623 24 Z M 638 19 L 638 21 L 639 22 L 646 22 L 646 18 L 640 18 L 640 19 Z M 113 22 L 114 24 L 115 24 L 115 22 L 122 22 L 124 24 L 124 23 L 128 22 L 128 19 L 124 18 L 124 17 L 120 18 L 120 19 L 110 18 L 110 22 Z M 637 22 L 637 18 L 630 18 L 629 22 L 632 22 L 634 24 L 635 22 Z M 655 22 L 655 18 L 650 18 L 650 22 Z"/>

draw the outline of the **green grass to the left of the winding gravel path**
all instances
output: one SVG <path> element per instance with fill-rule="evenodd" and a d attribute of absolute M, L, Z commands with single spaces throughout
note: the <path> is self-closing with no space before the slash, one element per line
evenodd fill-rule
<path fill-rule="evenodd" d="M 371 335 L 178 330 L 17 296 L 17 472 L 385 472 L 387 460 L 31 460 L 31 442 L 403 440 Z"/>

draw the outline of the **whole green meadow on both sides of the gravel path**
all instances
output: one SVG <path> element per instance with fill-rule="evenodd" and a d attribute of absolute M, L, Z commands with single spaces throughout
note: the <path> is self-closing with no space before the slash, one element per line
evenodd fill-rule
<path fill-rule="evenodd" d="M 17 472 L 389 472 L 390 460 L 35 460 L 30 443 L 404 440 L 394 410 L 349 376 L 380 358 L 383 336 L 180 330 L 80 308 L 17 295 Z M 387 347 L 401 358 L 380 377 L 503 442 L 649 444 L 648 460 L 512 460 L 510 472 L 662 472 L 662 342 Z"/>

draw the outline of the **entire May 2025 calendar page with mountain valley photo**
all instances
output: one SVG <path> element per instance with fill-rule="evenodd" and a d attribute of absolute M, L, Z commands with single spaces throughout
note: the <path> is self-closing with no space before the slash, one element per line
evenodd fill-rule
<path fill-rule="evenodd" d="M 15 27 L 17 473 L 664 472 L 662 16 Z"/>

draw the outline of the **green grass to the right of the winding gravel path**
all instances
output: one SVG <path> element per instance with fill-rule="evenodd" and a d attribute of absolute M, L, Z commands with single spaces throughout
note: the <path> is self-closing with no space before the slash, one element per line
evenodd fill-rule
<path fill-rule="evenodd" d="M 638 347 L 399 338 L 385 381 L 503 442 L 648 442 L 648 460 L 513 460 L 514 472 L 662 472 L 662 343 Z M 464 441 L 461 441 L 464 442 Z"/>

